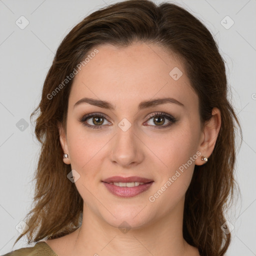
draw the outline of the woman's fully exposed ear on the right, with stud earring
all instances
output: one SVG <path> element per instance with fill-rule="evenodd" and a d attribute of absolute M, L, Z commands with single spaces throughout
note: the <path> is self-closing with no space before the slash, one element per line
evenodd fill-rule
<path fill-rule="evenodd" d="M 220 126 L 220 110 L 213 107 L 211 111 L 211 118 L 204 124 L 203 131 L 201 132 L 200 142 L 197 148 L 197 150 L 201 152 L 201 155 L 195 160 L 196 165 L 202 165 L 205 163 L 204 160 L 201 160 L 201 156 L 206 156 L 208 158 L 211 155 L 217 140 Z"/>

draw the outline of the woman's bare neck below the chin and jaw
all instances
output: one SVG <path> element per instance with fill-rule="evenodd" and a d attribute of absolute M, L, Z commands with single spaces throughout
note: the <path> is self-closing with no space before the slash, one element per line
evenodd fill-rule
<path fill-rule="evenodd" d="M 120 229 L 109 225 L 83 205 L 82 225 L 74 243 L 75 255 L 136 256 L 187 255 L 182 235 L 183 201 L 165 216 L 141 227 Z"/>

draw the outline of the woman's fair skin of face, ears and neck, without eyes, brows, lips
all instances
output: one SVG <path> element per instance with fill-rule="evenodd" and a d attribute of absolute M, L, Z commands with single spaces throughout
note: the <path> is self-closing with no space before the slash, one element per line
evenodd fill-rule
<path fill-rule="evenodd" d="M 198 256 L 182 236 L 184 196 L 194 165 L 209 157 L 220 128 L 220 112 L 200 129 L 198 97 L 180 59 L 158 45 L 133 43 L 126 48 L 96 47 L 98 53 L 75 76 L 68 99 L 67 130 L 59 126 L 60 143 L 71 169 L 79 173 L 76 188 L 83 198 L 82 225 L 76 231 L 45 242 L 59 255 L 162 255 Z M 183 74 L 174 80 L 169 72 Z M 74 104 L 83 97 L 110 102 L 115 109 L 89 103 Z M 171 97 L 138 110 L 141 101 Z M 176 118 L 162 128 L 151 113 L 164 112 Z M 101 128 L 84 126 L 79 119 L 88 113 L 104 115 Z M 97 115 L 98 116 L 98 115 Z M 87 124 L 97 123 L 88 117 Z M 118 126 L 126 118 L 127 130 Z M 154 120 L 156 119 L 156 120 Z M 108 125 L 109 124 L 109 125 Z M 124 124 L 128 125 L 127 123 Z M 127 126 L 126 126 L 127 127 Z M 159 125 L 158 125 L 159 127 Z M 201 155 L 198 157 L 196 152 Z M 150 201 L 175 171 L 194 156 L 189 167 Z M 207 163 L 206 163 L 207 164 Z M 102 180 L 110 176 L 140 176 L 152 179 L 148 190 L 123 198 L 110 193 Z M 71 182 L 71 181 L 70 181 Z M 129 226 L 123 232 L 118 226 Z"/>

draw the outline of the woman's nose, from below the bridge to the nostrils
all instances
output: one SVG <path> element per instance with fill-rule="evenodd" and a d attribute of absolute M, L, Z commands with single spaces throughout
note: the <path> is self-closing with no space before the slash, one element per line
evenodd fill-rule
<path fill-rule="evenodd" d="M 119 127 L 116 130 L 111 145 L 111 161 L 123 168 L 136 166 L 142 162 L 144 158 L 143 143 L 138 138 L 139 136 L 135 134 L 132 125 L 126 131 Z"/>

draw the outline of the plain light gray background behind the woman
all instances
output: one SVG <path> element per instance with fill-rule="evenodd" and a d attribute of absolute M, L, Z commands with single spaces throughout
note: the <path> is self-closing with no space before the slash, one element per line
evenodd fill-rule
<path fill-rule="evenodd" d="M 54 52 L 83 17 L 114 2 L 117 1 L 0 0 L 0 254 L 12 249 L 19 234 L 15 227 L 31 207 L 31 179 L 39 144 L 29 115 L 39 102 Z M 230 100 L 243 131 L 235 174 L 241 197 L 227 212 L 234 229 L 226 255 L 256 255 L 256 1 L 172 2 L 184 6 L 208 27 L 226 61 Z M 15 23 L 21 23 L 21 15 L 29 21 L 23 29 Z M 224 18 L 227 15 L 231 19 Z M 226 29 L 232 20 L 234 24 Z M 23 246 L 25 238 L 14 249 Z"/>

